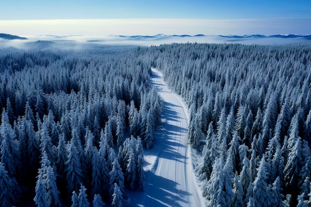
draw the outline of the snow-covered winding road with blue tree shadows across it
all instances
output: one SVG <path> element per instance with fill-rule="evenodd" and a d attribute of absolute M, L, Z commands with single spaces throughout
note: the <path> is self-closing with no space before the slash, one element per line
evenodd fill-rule
<path fill-rule="evenodd" d="M 162 128 L 155 132 L 155 146 L 145 150 L 145 191 L 130 195 L 132 206 L 200 207 L 187 142 L 188 113 L 182 99 L 165 85 L 162 74 L 152 69 L 152 84 L 163 100 Z"/>

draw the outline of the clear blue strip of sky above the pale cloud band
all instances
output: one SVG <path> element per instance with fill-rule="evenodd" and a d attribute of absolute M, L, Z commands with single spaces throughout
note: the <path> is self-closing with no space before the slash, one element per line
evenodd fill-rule
<path fill-rule="evenodd" d="M 311 0 L 3 0 L 0 20 L 311 18 Z"/>

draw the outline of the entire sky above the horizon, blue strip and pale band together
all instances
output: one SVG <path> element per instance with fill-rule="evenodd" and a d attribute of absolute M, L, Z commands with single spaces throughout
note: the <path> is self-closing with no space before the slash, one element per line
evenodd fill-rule
<path fill-rule="evenodd" d="M 311 34 L 311 0 L 3 0 L 1 32 L 16 35 Z"/>

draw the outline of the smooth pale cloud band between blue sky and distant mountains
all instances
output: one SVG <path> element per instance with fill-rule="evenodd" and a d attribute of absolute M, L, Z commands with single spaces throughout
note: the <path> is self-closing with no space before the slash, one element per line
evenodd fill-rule
<path fill-rule="evenodd" d="M 1 20 L 1 32 L 39 35 L 311 34 L 311 18 Z"/>

